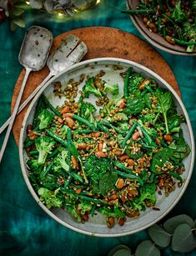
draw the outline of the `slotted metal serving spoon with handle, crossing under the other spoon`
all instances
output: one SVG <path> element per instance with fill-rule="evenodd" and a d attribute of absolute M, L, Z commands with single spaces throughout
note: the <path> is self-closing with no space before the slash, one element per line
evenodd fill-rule
<path fill-rule="evenodd" d="M 87 54 L 88 49 L 86 44 L 83 42 L 78 44 L 79 40 L 80 39 L 73 34 L 68 35 L 67 38 L 62 40 L 62 43 L 59 45 L 58 49 L 55 49 L 53 54 L 48 57 L 47 65 L 50 73 L 43 80 L 42 84 L 39 84 L 33 93 L 28 96 L 28 99 L 25 100 L 22 105 L 20 105 L 17 114 L 19 114 L 23 108 L 28 105 L 28 102 L 33 99 L 33 97 L 49 79 L 58 74 L 60 71 L 67 69 L 69 66 L 72 66 L 73 64 L 78 63 L 81 59 L 83 59 L 83 56 Z M 0 128 L 0 134 L 9 125 L 11 119 L 12 116 L 10 116 L 8 120 L 2 125 Z"/>

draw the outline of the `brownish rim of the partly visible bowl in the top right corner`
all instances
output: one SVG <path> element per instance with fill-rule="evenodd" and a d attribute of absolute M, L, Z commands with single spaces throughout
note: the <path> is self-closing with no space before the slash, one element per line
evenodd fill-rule
<path fill-rule="evenodd" d="M 127 7 L 128 9 L 131 8 L 131 4 L 132 4 L 132 0 L 126 0 L 127 1 Z M 137 15 L 129 15 L 130 19 L 132 20 L 135 28 L 138 29 L 138 32 L 141 33 L 143 35 L 143 38 L 145 38 L 150 44 L 152 44 L 153 46 L 157 47 L 158 49 L 161 49 L 169 54 L 175 54 L 175 55 L 181 55 L 181 56 L 195 56 L 196 55 L 196 51 L 194 51 L 193 53 L 188 53 L 186 52 L 185 50 L 183 51 L 180 51 L 178 49 L 171 49 L 170 47 L 164 45 L 164 44 L 161 44 L 161 43 L 158 43 L 157 40 L 154 40 L 153 37 L 150 37 L 150 32 L 147 33 L 147 31 L 145 31 L 145 27 L 143 25 L 143 23 L 139 22 L 139 18 Z M 148 28 L 147 28 L 148 29 Z M 152 32 L 153 34 L 153 32 Z M 162 38 L 160 35 L 159 35 L 160 38 Z M 180 46 L 180 45 L 178 45 Z M 183 48 L 182 48 L 183 49 Z"/>

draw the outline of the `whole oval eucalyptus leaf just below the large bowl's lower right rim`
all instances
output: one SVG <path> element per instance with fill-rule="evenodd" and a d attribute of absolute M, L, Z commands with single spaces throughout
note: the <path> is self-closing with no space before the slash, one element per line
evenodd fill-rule
<path fill-rule="evenodd" d="M 160 228 L 157 224 L 148 228 L 149 237 L 160 247 L 167 247 L 171 241 L 171 235 L 163 228 Z"/>

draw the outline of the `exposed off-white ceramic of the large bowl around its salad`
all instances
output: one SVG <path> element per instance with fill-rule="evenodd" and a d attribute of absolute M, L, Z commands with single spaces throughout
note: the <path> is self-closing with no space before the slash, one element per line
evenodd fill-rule
<path fill-rule="evenodd" d="M 106 225 L 106 218 L 101 214 L 94 215 L 93 218 L 89 218 L 87 223 L 77 223 L 73 218 L 63 209 L 52 209 L 48 210 L 47 207 L 40 202 L 38 195 L 33 190 L 33 187 L 28 179 L 28 169 L 26 166 L 26 160 L 28 156 L 23 148 L 23 141 L 27 136 L 27 125 L 31 124 L 33 121 L 33 115 L 35 112 L 35 107 L 38 102 L 38 98 L 44 92 L 48 99 L 52 102 L 54 106 L 62 105 L 63 97 L 59 99 L 53 94 L 53 82 L 61 81 L 62 84 L 68 83 L 68 80 L 73 78 L 79 79 L 80 74 L 88 74 L 90 76 L 98 74 L 100 70 L 105 71 L 103 79 L 110 81 L 110 84 L 118 83 L 120 85 L 120 90 L 123 90 L 123 79 L 120 73 L 123 70 L 128 69 L 128 67 L 133 67 L 133 70 L 141 72 L 145 77 L 151 77 L 158 81 L 160 87 L 167 88 L 173 94 L 175 104 L 177 105 L 178 113 L 183 114 L 186 118 L 187 124 L 183 124 L 183 135 L 188 145 L 191 147 L 191 153 L 184 159 L 184 165 L 186 171 L 183 173 L 183 178 L 185 182 L 182 187 L 177 187 L 174 192 L 172 192 L 169 197 L 158 196 L 158 202 L 156 207 L 160 208 L 160 211 L 154 211 L 152 208 L 148 208 L 145 212 L 141 212 L 138 218 L 128 218 L 127 222 L 123 227 L 118 224 L 114 225 L 113 228 L 108 228 Z M 122 69 L 118 69 L 121 67 Z M 125 59 L 114 59 L 114 58 L 102 58 L 102 59 L 90 59 L 83 61 L 82 63 L 75 64 L 73 67 L 63 71 L 58 74 L 53 79 L 48 81 L 43 89 L 35 96 L 33 102 L 28 108 L 27 114 L 23 120 L 23 126 L 20 134 L 20 146 L 19 146 L 20 163 L 23 172 L 24 180 L 28 186 L 29 192 L 31 192 L 33 198 L 38 202 L 39 206 L 53 219 L 58 221 L 58 223 L 63 224 L 67 228 L 71 228 L 79 233 L 85 233 L 88 235 L 99 236 L 99 237 L 118 237 L 127 235 L 130 233 L 136 233 L 144 228 L 148 228 L 150 225 L 157 223 L 158 220 L 163 218 L 174 205 L 182 197 L 183 192 L 188 186 L 188 182 L 191 178 L 193 171 L 193 161 L 194 161 L 194 142 L 193 142 L 193 131 L 191 128 L 190 120 L 188 118 L 187 111 L 183 105 L 182 100 L 178 97 L 177 93 L 173 88 L 165 82 L 158 74 L 153 73 L 152 70 L 143 67 L 140 64 L 128 61 Z"/>

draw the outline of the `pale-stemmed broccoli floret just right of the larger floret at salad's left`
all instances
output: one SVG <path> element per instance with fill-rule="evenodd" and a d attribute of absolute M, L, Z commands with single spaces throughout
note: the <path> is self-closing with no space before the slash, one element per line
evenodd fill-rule
<path fill-rule="evenodd" d="M 66 150 L 61 151 L 58 154 L 58 156 L 55 157 L 54 164 L 53 164 L 54 172 L 59 172 L 62 169 L 66 172 L 69 171 L 68 151 L 66 151 Z"/>

